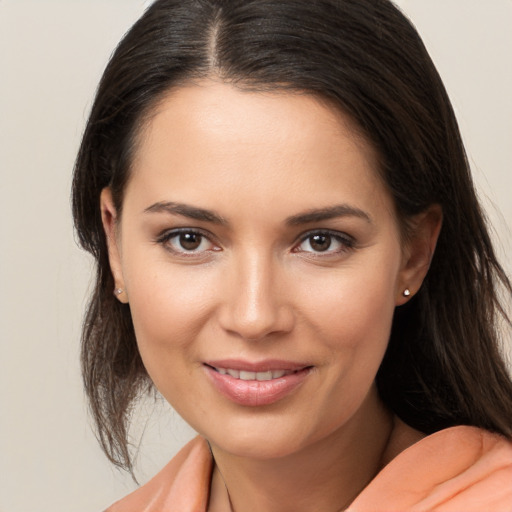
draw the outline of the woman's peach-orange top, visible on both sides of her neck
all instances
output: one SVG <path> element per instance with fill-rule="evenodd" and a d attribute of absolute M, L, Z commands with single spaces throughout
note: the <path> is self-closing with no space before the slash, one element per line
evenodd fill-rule
<path fill-rule="evenodd" d="M 512 512 L 512 443 L 459 426 L 408 446 L 415 434 L 399 424 L 392 435 L 396 456 L 347 512 Z M 212 468 L 206 441 L 196 437 L 106 512 L 206 512 Z"/>

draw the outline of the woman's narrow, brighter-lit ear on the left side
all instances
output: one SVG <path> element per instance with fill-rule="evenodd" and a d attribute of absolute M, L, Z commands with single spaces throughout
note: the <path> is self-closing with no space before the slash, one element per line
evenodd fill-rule
<path fill-rule="evenodd" d="M 120 302 L 127 304 L 128 294 L 125 288 L 118 244 L 117 211 L 112 199 L 112 191 L 109 187 L 106 187 L 101 191 L 100 208 L 103 229 L 105 230 L 105 237 L 107 239 L 110 270 L 115 283 L 115 289 L 112 290 L 112 293 L 114 293 Z"/>

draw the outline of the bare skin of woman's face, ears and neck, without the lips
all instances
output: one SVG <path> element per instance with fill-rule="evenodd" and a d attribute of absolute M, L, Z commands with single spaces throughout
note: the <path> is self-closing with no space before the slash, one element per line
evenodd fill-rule
<path fill-rule="evenodd" d="M 211 512 L 340 510 L 382 464 L 393 418 L 374 379 L 441 214 L 413 219 L 404 243 L 376 169 L 373 148 L 325 102 L 212 80 L 160 102 L 120 218 L 102 193 L 111 268 L 146 369 L 211 445 Z M 195 249 L 180 228 L 196 232 Z M 207 377 L 204 362 L 225 358 L 311 370 L 283 399 L 250 407 Z"/>

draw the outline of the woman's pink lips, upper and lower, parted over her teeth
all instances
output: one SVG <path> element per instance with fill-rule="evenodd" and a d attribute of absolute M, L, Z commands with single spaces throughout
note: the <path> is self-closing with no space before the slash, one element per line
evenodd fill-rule
<path fill-rule="evenodd" d="M 239 405 L 257 407 L 270 405 L 293 393 L 308 377 L 312 366 L 282 360 L 248 362 L 233 359 L 208 361 L 204 369 L 214 388 L 224 397 Z M 272 380 L 241 380 L 219 373 L 215 368 L 229 368 L 247 372 L 285 370 L 291 372 Z"/>

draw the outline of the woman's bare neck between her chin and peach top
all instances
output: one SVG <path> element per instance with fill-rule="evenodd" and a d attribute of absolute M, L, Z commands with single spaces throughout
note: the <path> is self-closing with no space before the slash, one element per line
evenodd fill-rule
<path fill-rule="evenodd" d="M 212 446 L 209 512 L 337 512 L 382 467 L 390 413 L 373 390 L 351 420 L 293 454 L 249 459 Z"/>

